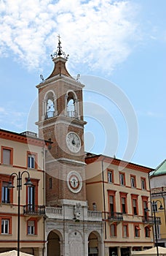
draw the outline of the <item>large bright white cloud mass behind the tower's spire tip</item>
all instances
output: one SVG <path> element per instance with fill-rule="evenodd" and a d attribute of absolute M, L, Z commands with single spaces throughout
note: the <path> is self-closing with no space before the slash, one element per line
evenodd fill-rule
<path fill-rule="evenodd" d="M 136 11 L 125 0 L 1 0 L 0 56 L 14 53 L 28 69 L 40 68 L 60 34 L 73 65 L 111 72 L 138 40 Z"/>

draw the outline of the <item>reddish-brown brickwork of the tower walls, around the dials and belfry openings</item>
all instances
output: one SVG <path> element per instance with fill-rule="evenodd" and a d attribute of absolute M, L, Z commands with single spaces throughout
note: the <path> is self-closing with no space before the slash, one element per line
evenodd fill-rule
<path fill-rule="evenodd" d="M 60 63 L 58 63 L 60 67 Z M 50 78 L 58 75 L 55 67 Z M 65 66 L 61 66 L 64 67 Z M 65 70 L 65 69 L 64 69 Z M 66 75 L 65 73 L 63 75 Z M 52 141 L 51 148 L 46 154 L 46 203 L 47 206 L 58 206 L 61 199 L 86 201 L 85 174 L 84 174 L 84 120 L 82 105 L 82 87 L 80 83 L 71 80 L 71 83 L 59 76 L 54 80 L 46 80 L 39 88 L 39 137 Z M 45 118 L 47 96 L 55 97 L 55 116 Z M 69 95 L 69 96 L 68 96 Z M 76 99 L 79 118 L 66 116 L 66 107 L 70 97 Z M 77 103 L 79 102 L 79 103 Z M 44 109 L 45 108 L 45 109 Z M 81 140 L 79 152 L 71 152 L 66 144 L 68 132 L 75 132 Z M 68 187 L 68 173 L 75 171 L 82 177 L 82 189 L 71 192 Z"/>

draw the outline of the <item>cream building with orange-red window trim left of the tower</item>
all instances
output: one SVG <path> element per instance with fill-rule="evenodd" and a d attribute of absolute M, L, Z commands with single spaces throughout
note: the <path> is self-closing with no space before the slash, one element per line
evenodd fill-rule
<path fill-rule="evenodd" d="M 44 141 L 32 132 L 17 134 L 0 129 L 0 252 L 17 249 L 20 173 L 20 251 L 43 255 L 44 150 Z M 24 186 L 28 176 L 32 187 Z M 15 188 L 8 188 L 9 181 Z"/>

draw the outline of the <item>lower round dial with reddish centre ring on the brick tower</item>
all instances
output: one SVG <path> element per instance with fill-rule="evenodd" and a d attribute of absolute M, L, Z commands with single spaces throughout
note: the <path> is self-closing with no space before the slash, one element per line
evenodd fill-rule
<path fill-rule="evenodd" d="M 67 184 L 71 192 L 78 193 L 82 189 L 82 177 L 76 171 L 71 171 L 68 173 Z"/>

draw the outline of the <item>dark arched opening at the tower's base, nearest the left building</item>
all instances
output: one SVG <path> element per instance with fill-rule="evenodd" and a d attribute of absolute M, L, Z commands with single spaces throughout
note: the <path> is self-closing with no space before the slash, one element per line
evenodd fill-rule
<path fill-rule="evenodd" d="M 47 241 L 47 256 L 60 256 L 60 236 L 54 231 L 51 231 Z"/>

